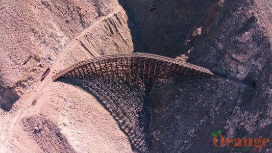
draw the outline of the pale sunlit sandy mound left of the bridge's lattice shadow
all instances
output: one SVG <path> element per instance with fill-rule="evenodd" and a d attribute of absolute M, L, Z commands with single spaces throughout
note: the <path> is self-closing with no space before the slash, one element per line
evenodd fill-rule
<path fill-rule="evenodd" d="M 28 128 L 30 126 L 28 124 L 24 125 L 26 118 L 41 120 L 39 116 L 44 116 L 45 119 L 57 124 L 67 142 L 78 152 L 131 152 L 130 142 L 120 131 L 113 117 L 92 95 L 79 87 L 54 82 L 28 110 L 30 113 L 19 121 L 14 131 L 10 142 L 14 146 L 8 147 L 8 152 L 17 148 L 22 152 L 29 152 L 32 149 L 39 152 L 39 148 L 44 147 L 39 141 L 47 139 L 38 140 L 40 138 L 37 136 L 44 131 L 32 135 L 34 129 Z M 35 127 L 38 121 L 31 123 Z M 56 145 L 52 148 L 61 145 L 54 139 L 54 135 L 47 141 L 52 141 Z M 50 148 L 50 145 L 46 147 Z"/>

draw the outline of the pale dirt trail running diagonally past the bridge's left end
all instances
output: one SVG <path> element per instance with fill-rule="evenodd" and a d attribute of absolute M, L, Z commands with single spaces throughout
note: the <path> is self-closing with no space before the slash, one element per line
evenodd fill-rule
<path fill-rule="evenodd" d="M 18 110 L 18 114 L 16 116 L 14 116 L 11 120 L 14 120 L 12 122 L 12 124 L 10 125 L 10 130 L 8 132 L 8 137 L 6 138 L 4 145 L 0 148 L 0 152 L 6 152 L 6 147 L 9 143 L 10 138 L 12 137 L 13 131 L 18 123 L 18 121 L 20 119 L 22 119 L 24 116 L 26 116 L 29 113 L 28 108 L 32 105 L 33 100 L 39 96 L 41 94 L 42 91 L 46 90 L 45 88 L 48 87 L 48 85 L 50 85 L 54 80 L 52 80 L 52 77 L 57 69 L 57 65 L 61 64 L 61 60 L 64 58 L 65 54 L 68 52 L 68 50 L 75 45 L 76 43 L 79 43 L 79 38 L 84 36 L 88 31 L 90 31 L 91 29 L 95 28 L 96 25 L 98 23 L 100 23 L 101 21 L 103 21 L 104 19 L 110 18 L 111 16 L 115 15 L 116 13 L 120 12 L 121 8 L 117 9 L 116 11 L 103 16 L 101 18 L 98 18 L 96 21 L 93 22 L 93 24 L 90 25 L 90 27 L 86 28 L 82 33 L 80 33 L 80 35 L 78 35 L 76 38 L 72 39 L 68 44 L 67 47 L 65 48 L 65 50 L 59 54 L 59 56 L 57 57 L 57 59 L 55 60 L 55 62 L 49 67 L 51 69 L 50 73 L 48 73 L 47 77 L 40 83 L 38 83 L 37 87 L 29 94 L 24 95 L 22 97 L 23 101 L 26 101 L 26 103 L 24 103 L 24 106 Z M 81 47 L 82 49 L 85 49 L 84 47 Z M 86 50 L 86 49 L 85 49 Z M 87 51 L 87 50 L 86 50 Z M 94 58 L 96 56 L 100 56 L 100 55 L 93 55 L 90 53 L 89 58 Z"/>

